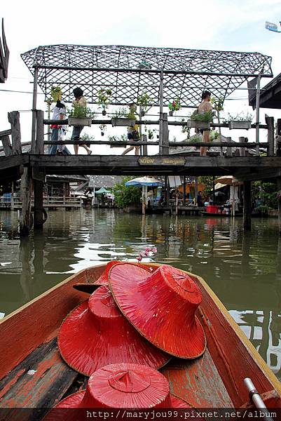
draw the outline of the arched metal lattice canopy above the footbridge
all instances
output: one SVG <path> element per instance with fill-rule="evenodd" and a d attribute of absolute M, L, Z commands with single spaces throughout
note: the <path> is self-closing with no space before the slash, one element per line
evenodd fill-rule
<path fill-rule="evenodd" d="M 73 100 L 74 87 L 83 88 L 88 102 L 97 91 L 111 89 L 112 105 L 126 105 L 147 93 L 153 105 L 180 98 L 182 107 L 196 107 L 203 90 L 224 99 L 248 78 L 263 72 L 272 77 L 271 58 L 261 53 L 143 48 L 132 46 L 39 46 L 21 55 L 46 97 L 51 86 L 62 88 L 62 99 Z"/>

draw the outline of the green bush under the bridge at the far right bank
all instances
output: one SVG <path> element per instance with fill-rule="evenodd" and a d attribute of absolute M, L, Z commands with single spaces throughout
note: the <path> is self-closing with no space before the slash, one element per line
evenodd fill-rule
<path fill-rule="evenodd" d="M 277 186 L 273 182 L 252 182 L 252 200 L 261 203 L 257 209 L 262 213 L 277 209 Z"/>

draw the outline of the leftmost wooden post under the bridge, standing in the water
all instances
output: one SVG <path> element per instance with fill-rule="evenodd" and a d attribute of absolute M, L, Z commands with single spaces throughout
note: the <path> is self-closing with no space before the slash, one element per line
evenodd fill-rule
<path fill-rule="evenodd" d="M 29 235 L 32 226 L 32 177 L 29 168 L 25 167 L 20 182 L 22 195 L 22 213 L 20 215 L 20 236 Z"/>

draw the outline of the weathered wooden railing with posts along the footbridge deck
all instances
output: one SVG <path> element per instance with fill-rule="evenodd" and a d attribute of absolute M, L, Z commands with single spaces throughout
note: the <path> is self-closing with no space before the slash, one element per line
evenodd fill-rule
<path fill-rule="evenodd" d="M 8 113 L 8 119 L 11 123 L 11 129 L 0 132 L 0 140 L 2 141 L 3 149 L 5 156 L 11 156 L 22 153 L 22 145 L 20 139 L 20 113 L 18 111 L 13 111 Z M 36 137 L 32 143 L 31 152 L 33 154 L 44 154 L 44 145 L 74 145 L 76 142 L 74 140 L 64 140 L 64 141 L 47 141 L 44 140 L 44 126 L 49 124 L 57 123 L 57 120 L 46 120 L 43 119 L 43 111 L 36 110 Z M 68 124 L 68 120 L 60 121 L 62 124 Z M 186 140 L 186 142 L 170 142 L 169 140 L 169 126 L 186 126 L 185 121 L 167 121 L 167 114 L 163 113 L 163 117 L 160 120 L 139 120 L 136 121 L 138 125 L 152 126 L 157 125 L 161 127 L 159 131 L 159 140 L 155 142 L 147 140 L 146 134 L 142 135 L 142 140 L 139 142 L 126 140 L 125 142 L 116 142 L 110 140 L 92 140 L 88 141 L 87 144 L 90 145 L 111 145 L 111 147 L 120 147 L 124 145 L 129 146 L 140 146 L 142 149 L 142 155 L 147 155 L 148 146 L 158 146 L 160 155 L 169 154 L 170 148 L 178 148 L 183 146 L 191 147 L 219 147 L 220 154 L 223 154 L 223 147 L 226 147 L 226 155 L 232 156 L 233 149 L 238 148 L 240 151 L 240 156 L 245 156 L 245 151 L 247 149 L 255 149 L 256 155 L 260 154 L 260 149 L 266 151 L 267 156 L 280 156 L 281 152 L 281 142 L 276 140 L 275 142 L 275 133 L 274 133 L 274 118 L 266 116 L 266 124 L 259 124 L 259 129 L 266 129 L 268 131 L 268 142 L 247 142 L 247 138 L 240 137 L 239 142 L 233 142 L 231 138 L 227 138 L 227 142 L 192 142 L 192 140 Z M 111 120 L 92 120 L 92 125 L 100 124 L 111 124 Z M 211 128 L 228 128 L 227 123 L 211 123 Z M 278 124 L 277 124 L 278 126 Z M 257 125 L 252 124 L 251 129 L 256 130 Z M 281 133 L 277 133 L 280 135 Z M 11 141 L 9 136 L 11 135 Z M 279 137 L 280 138 L 280 137 Z M 275 145 L 276 143 L 276 145 Z"/>

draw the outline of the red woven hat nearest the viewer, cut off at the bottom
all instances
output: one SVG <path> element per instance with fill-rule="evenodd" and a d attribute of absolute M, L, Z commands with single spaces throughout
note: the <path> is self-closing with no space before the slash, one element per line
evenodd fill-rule
<path fill-rule="evenodd" d="M 138 409 L 192 406 L 170 394 L 169 382 L 163 374 L 148 366 L 121 363 L 110 364 L 92 373 L 86 390 L 71 394 L 55 408 Z M 52 417 L 55 408 L 50 410 L 44 420 L 61 419 Z"/>

